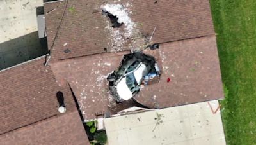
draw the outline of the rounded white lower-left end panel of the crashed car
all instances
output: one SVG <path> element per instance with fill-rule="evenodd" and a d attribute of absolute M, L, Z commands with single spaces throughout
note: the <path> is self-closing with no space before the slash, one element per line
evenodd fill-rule
<path fill-rule="evenodd" d="M 129 100 L 132 98 L 132 92 L 126 85 L 126 80 L 125 77 L 119 81 L 119 83 L 116 85 L 116 91 L 118 95 L 124 99 L 124 100 Z"/>

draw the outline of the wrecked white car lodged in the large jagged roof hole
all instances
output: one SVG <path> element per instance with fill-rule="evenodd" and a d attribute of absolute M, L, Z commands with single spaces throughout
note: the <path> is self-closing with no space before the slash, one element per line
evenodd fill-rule
<path fill-rule="evenodd" d="M 141 52 L 124 55 L 118 71 L 108 76 L 109 88 L 116 102 L 131 99 L 140 92 L 146 76 L 159 76 L 156 59 Z"/>

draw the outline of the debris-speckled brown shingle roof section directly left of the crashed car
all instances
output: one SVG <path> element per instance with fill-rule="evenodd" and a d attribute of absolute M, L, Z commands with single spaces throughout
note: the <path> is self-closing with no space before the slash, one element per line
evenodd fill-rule
<path fill-rule="evenodd" d="M 84 120 L 94 119 L 97 112 L 111 113 L 109 105 L 114 101 L 109 95 L 106 76 L 118 67 L 126 53 L 129 52 L 103 53 L 51 64 L 56 79 L 61 84 L 67 81 L 70 84 Z"/>

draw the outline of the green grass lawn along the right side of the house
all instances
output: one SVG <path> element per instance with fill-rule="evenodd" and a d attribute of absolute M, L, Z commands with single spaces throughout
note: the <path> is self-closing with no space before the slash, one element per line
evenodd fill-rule
<path fill-rule="evenodd" d="M 227 144 L 256 144 L 256 0 L 210 0 L 217 34 Z"/>

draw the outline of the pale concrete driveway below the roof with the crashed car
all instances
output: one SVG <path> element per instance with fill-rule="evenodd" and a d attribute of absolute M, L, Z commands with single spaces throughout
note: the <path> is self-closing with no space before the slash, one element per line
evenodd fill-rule
<path fill-rule="evenodd" d="M 211 110 L 211 107 L 212 110 Z M 225 144 L 218 101 L 106 118 L 111 145 Z"/>

